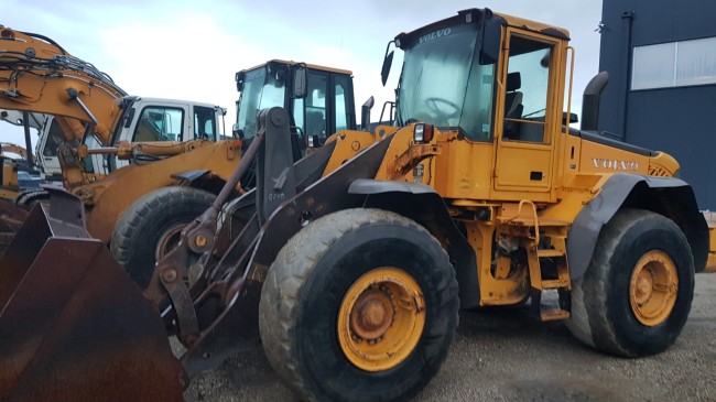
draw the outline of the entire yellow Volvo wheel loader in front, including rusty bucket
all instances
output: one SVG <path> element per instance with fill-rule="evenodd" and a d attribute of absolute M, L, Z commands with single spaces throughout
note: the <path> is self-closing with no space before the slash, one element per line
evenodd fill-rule
<path fill-rule="evenodd" d="M 192 376 L 260 339 L 302 400 L 410 400 L 458 309 L 500 305 L 609 355 L 673 345 L 694 274 L 716 272 L 716 225 L 668 153 L 600 135 L 597 108 L 569 126 L 568 31 L 469 9 L 391 46 L 395 126 L 339 130 L 294 162 L 291 113 L 261 110 L 145 289 L 87 236 L 70 194 L 35 207 L 0 260 L 0 399 L 182 400 Z M 235 194 L 253 163 L 256 187 Z"/>

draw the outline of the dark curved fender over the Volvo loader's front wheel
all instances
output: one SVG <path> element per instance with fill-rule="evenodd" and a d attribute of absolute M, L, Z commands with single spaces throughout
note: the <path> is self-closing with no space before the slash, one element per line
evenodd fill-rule
<path fill-rule="evenodd" d="M 350 184 L 348 193 L 367 196 L 364 204 L 367 208 L 381 208 L 403 215 L 435 236 L 455 265 L 460 308 L 479 306 L 477 256 L 451 218 L 443 197 L 433 187 L 413 182 L 359 178 Z"/>

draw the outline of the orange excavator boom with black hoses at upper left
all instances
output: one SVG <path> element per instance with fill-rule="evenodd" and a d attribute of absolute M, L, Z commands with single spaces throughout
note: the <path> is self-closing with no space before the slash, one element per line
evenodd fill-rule
<path fill-rule="evenodd" d="M 0 25 L 0 108 L 54 115 L 67 140 L 82 140 L 88 123 L 107 145 L 126 95 L 51 39 Z"/>

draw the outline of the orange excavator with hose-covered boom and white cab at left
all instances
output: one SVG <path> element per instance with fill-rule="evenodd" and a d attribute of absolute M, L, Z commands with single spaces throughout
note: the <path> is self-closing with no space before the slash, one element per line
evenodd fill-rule
<path fill-rule="evenodd" d="M 48 169 L 54 161 L 47 157 L 55 156 L 63 143 L 73 148 L 84 144 L 93 154 L 93 148 L 118 148 L 123 142 L 129 142 L 126 148 L 131 149 L 133 142 L 172 145 L 171 142 L 194 139 L 215 140 L 223 128 L 224 109 L 128 96 L 109 75 L 72 56 L 46 36 L 0 25 L 0 84 L 4 86 L 0 107 L 52 117 L 43 120 L 39 143 L 42 152 L 37 152 Z M 123 119 L 121 123 L 120 119 Z M 108 152 L 110 150 L 102 150 L 97 154 Z M 118 149 L 115 153 L 121 152 L 129 151 Z M 82 165 L 75 161 L 76 156 L 68 153 L 69 160 L 63 165 L 66 188 L 72 191 L 87 185 L 108 173 L 105 166 L 97 166 L 96 156 L 85 157 Z M 109 170 L 117 167 L 115 164 Z"/>

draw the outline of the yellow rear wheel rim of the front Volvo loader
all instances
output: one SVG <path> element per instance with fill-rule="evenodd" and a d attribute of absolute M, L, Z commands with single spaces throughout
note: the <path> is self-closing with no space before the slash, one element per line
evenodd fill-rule
<path fill-rule="evenodd" d="M 669 318 L 676 303 L 676 264 L 663 251 L 652 250 L 637 262 L 629 285 L 629 301 L 637 319 L 657 326 Z"/>

